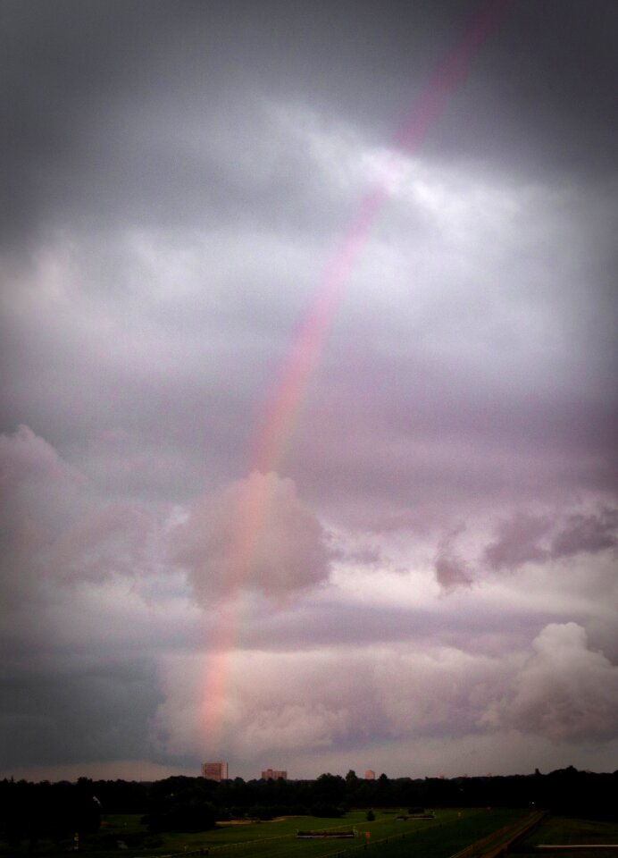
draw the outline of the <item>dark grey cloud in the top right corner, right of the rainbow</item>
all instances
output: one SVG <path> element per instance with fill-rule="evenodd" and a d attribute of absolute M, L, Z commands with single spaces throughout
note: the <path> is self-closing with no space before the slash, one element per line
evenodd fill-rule
<path fill-rule="evenodd" d="M 564 176 L 569 168 L 594 174 L 600 165 L 613 171 L 609 156 L 615 110 L 609 98 L 615 69 L 610 33 L 617 26 L 611 0 L 586 10 L 577 2 L 560 0 L 542 7 L 513 4 L 486 57 L 478 61 L 478 78 L 468 85 L 470 95 L 476 90 L 474 100 L 481 97 L 484 105 L 477 122 L 489 137 L 489 149 L 501 150 L 515 169 L 536 168 L 543 175 Z M 492 69 L 491 77 L 483 74 L 484 63 Z M 594 83 L 597 76 L 599 85 Z M 452 121 L 460 122 L 461 133 L 445 145 L 451 155 L 456 144 L 473 157 L 471 142 L 479 126 L 472 122 L 466 97 L 455 105 Z"/>

